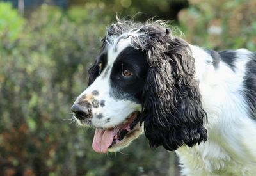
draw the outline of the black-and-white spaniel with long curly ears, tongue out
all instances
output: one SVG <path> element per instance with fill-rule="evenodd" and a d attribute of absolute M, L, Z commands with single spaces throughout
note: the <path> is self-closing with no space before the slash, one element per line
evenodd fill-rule
<path fill-rule="evenodd" d="M 183 175 L 256 175 L 256 52 L 216 52 L 172 33 L 161 20 L 111 24 L 74 118 L 95 128 L 95 152 L 145 134 L 177 153 Z"/>

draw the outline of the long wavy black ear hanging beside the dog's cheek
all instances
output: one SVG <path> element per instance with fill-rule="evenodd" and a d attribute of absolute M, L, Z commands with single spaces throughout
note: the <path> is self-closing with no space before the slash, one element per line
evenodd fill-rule
<path fill-rule="evenodd" d="M 207 140 L 201 95 L 189 45 L 170 36 L 150 36 L 141 123 L 152 147 L 176 150 Z M 155 38 L 155 39 L 154 39 Z"/>

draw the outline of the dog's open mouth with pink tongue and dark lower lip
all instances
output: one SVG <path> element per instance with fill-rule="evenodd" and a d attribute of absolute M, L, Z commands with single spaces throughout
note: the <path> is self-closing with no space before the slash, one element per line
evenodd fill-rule
<path fill-rule="evenodd" d="M 123 124 L 110 129 L 95 129 L 93 138 L 93 150 L 99 153 L 106 153 L 108 149 L 120 143 L 126 135 L 134 132 L 134 127 L 140 121 L 140 112 L 136 111 L 127 116 Z"/>

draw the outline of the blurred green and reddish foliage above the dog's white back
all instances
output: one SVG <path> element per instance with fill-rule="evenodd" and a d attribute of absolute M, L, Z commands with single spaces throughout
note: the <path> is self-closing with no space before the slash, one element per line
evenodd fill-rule
<path fill-rule="evenodd" d="M 256 50 L 256 1 L 189 1 L 179 13 L 186 40 L 213 49 Z"/>

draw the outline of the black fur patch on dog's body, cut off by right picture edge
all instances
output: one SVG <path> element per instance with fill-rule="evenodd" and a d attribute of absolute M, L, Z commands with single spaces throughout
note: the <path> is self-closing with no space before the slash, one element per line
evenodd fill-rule
<path fill-rule="evenodd" d="M 252 60 L 246 64 L 246 76 L 244 76 L 244 93 L 248 103 L 250 116 L 256 119 L 256 52 L 252 54 Z"/>

